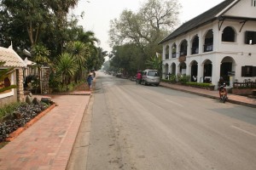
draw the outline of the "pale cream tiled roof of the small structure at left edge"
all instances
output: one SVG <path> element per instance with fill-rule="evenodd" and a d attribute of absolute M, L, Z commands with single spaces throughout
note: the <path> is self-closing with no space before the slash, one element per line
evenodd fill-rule
<path fill-rule="evenodd" d="M 0 47 L 0 61 L 5 61 L 3 67 L 26 67 L 26 63 L 12 48 Z"/>

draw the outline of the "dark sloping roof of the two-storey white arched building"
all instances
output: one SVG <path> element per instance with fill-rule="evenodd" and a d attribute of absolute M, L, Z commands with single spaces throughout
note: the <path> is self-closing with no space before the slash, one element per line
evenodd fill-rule
<path fill-rule="evenodd" d="M 229 7 L 229 5 L 235 1 L 237 0 L 224 0 L 224 2 L 219 3 L 213 8 L 210 8 L 203 14 L 200 14 L 194 19 L 185 22 L 182 26 L 179 26 L 175 31 L 173 31 L 169 36 L 160 41 L 159 44 L 172 40 L 184 33 L 187 33 L 188 31 L 198 28 L 199 26 L 203 26 L 209 22 L 212 22 L 213 20 L 217 20 L 218 14 L 224 11 L 225 8 Z"/>

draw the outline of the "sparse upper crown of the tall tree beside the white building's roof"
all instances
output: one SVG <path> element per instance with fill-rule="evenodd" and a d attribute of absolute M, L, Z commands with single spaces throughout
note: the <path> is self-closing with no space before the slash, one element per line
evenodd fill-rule
<path fill-rule="evenodd" d="M 177 24 L 180 8 L 177 0 L 148 0 L 138 13 L 125 9 L 119 20 L 110 22 L 109 37 L 112 46 L 135 43 L 146 56 L 160 52 L 158 42 Z"/>

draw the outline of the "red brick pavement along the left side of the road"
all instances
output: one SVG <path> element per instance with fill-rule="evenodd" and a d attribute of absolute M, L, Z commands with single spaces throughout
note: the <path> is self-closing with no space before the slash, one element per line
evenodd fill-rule
<path fill-rule="evenodd" d="M 51 97 L 58 106 L 0 150 L 1 170 L 66 168 L 90 95 Z"/>

